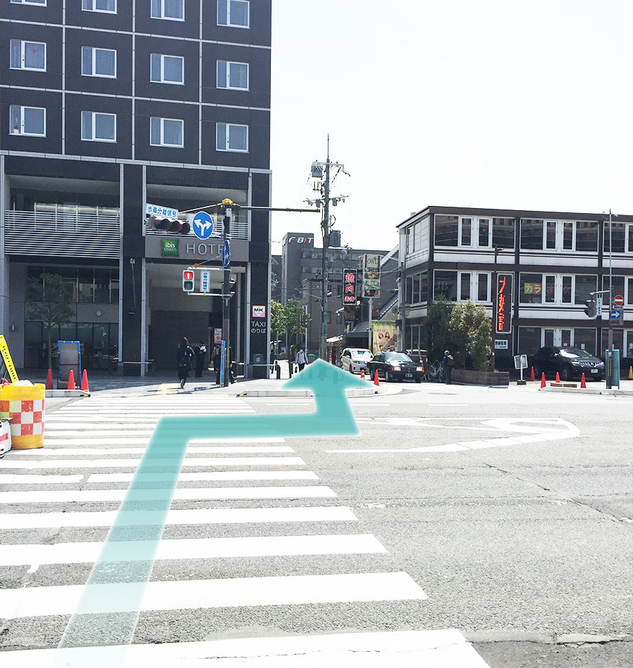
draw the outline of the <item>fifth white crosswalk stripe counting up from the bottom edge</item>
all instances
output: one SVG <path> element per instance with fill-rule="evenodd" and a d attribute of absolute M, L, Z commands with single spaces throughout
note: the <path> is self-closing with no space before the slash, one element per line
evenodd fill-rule
<path fill-rule="evenodd" d="M 94 503 L 95 501 L 122 501 L 127 489 L 53 489 L 41 492 L 0 492 L 1 503 Z M 155 490 L 138 489 L 136 501 L 155 500 Z M 336 496 L 325 485 L 305 487 L 185 487 L 174 489 L 174 501 L 191 499 L 308 499 Z"/>

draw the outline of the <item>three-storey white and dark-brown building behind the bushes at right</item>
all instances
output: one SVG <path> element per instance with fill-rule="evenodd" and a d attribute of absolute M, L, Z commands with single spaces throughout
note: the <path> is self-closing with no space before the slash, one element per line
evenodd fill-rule
<path fill-rule="evenodd" d="M 544 345 L 607 347 L 603 319 L 584 313 L 589 293 L 608 290 L 622 317 L 614 347 L 633 351 L 633 216 L 426 207 L 397 226 L 401 271 L 399 328 L 408 349 L 426 349 L 428 303 L 471 299 L 493 315 L 495 275 L 510 275 L 511 331 L 497 334 L 495 354 L 533 354 Z M 618 301 L 620 301 L 618 299 Z"/>

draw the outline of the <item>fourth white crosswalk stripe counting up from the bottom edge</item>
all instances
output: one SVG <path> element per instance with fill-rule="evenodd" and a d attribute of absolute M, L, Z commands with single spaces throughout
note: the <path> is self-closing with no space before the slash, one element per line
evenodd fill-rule
<path fill-rule="evenodd" d="M 0 513 L 0 529 L 50 529 L 55 527 L 110 527 L 117 510 L 92 513 Z M 134 511 L 138 523 L 140 511 Z M 120 518 L 125 524 L 125 515 Z M 200 508 L 169 510 L 167 525 L 259 524 L 267 522 L 354 522 L 347 506 L 293 506 L 290 508 Z"/>

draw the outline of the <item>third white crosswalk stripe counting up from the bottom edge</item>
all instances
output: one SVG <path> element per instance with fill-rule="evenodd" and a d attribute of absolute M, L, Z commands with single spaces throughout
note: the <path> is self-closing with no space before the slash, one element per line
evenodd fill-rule
<path fill-rule="evenodd" d="M 5 566 L 94 563 L 102 547 L 101 542 L 4 545 L 0 546 L 0 563 Z M 385 552 L 385 548 L 371 534 L 190 538 L 160 541 L 155 559 L 223 559 Z M 138 554 L 137 542 L 116 541 L 108 550 L 108 562 L 135 561 L 139 559 L 136 556 Z M 140 558 L 145 559 L 146 555 L 143 554 Z"/>

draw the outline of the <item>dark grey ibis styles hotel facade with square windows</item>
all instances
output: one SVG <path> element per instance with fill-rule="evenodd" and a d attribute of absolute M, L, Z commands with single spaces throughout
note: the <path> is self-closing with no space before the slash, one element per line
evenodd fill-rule
<path fill-rule="evenodd" d="M 269 206 L 271 1 L 11 0 L 0 25 L 0 331 L 16 365 L 45 358 L 26 286 L 46 272 L 75 304 L 53 341 L 79 340 L 86 368 L 174 368 L 184 335 L 212 349 L 221 300 L 181 280 L 222 267 L 222 217 L 199 240 L 147 205 Z M 269 213 L 238 210 L 229 239 L 230 341 L 249 366 L 269 339 L 251 317 L 268 315 Z"/>

